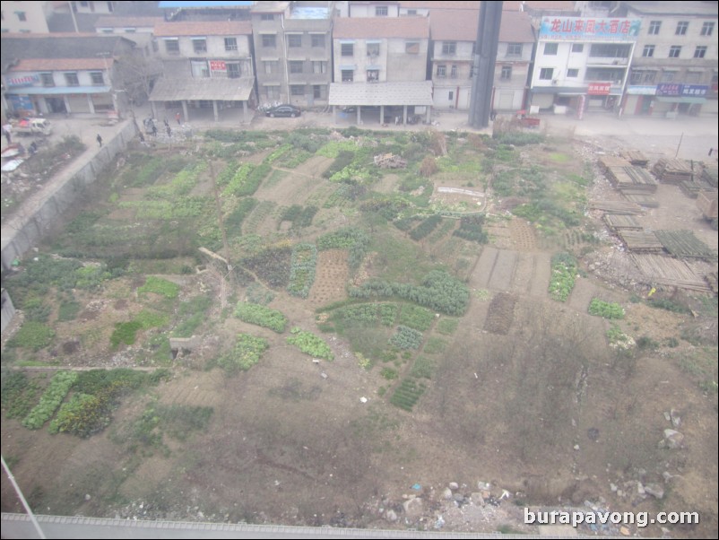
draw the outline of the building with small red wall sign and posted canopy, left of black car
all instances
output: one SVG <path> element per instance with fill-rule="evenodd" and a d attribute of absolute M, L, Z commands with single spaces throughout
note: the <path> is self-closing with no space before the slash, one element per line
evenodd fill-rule
<path fill-rule="evenodd" d="M 159 107 L 181 107 L 186 121 L 190 109 L 212 108 L 218 120 L 221 109 L 241 106 L 248 120 L 255 86 L 248 21 L 161 22 L 154 36 L 163 65 L 150 96 L 156 117 L 167 116 Z"/>

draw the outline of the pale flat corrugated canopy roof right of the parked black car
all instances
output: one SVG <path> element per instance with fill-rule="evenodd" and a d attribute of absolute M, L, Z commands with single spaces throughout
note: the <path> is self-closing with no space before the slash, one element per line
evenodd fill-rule
<path fill-rule="evenodd" d="M 332 83 L 330 105 L 432 105 L 432 82 Z"/>

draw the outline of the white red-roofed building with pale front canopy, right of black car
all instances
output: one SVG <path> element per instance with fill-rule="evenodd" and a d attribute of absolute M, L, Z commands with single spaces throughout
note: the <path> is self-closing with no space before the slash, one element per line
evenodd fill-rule
<path fill-rule="evenodd" d="M 334 83 L 330 105 L 377 110 L 385 123 L 427 114 L 432 83 L 427 80 L 429 21 L 426 17 L 336 18 L 333 30 Z"/>

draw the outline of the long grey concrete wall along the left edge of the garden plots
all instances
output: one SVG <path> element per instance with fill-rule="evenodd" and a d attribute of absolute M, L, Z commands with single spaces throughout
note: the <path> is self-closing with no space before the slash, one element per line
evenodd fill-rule
<path fill-rule="evenodd" d="M 48 231 L 56 227 L 60 217 L 74 205 L 84 188 L 98 179 L 100 171 L 107 168 L 118 153 L 125 152 L 134 136 L 133 123 L 126 121 L 125 126 L 119 127 L 117 135 L 106 141 L 94 156 L 88 159 L 91 153 L 83 153 L 80 160 L 84 162 L 79 168 L 75 163 L 76 170 L 61 172 L 53 186 L 42 192 L 39 201 L 26 201 L 27 207 L 13 216 L 12 226 L 6 224 L 3 227 L 3 270 L 9 269 L 15 258 L 22 258 Z"/>

